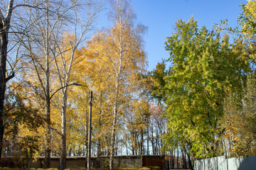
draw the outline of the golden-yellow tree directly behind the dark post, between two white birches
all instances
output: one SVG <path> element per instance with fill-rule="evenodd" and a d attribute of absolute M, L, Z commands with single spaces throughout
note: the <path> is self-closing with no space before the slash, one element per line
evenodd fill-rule
<path fill-rule="evenodd" d="M 93 139 L 97 145 L 97 167 L 100 168 L 100 156 L 109 152 L 110 139 L 110 119 L 111 119 L 111 73 L 106 58 L 102 58 L 102 48 L 93 45 L 94 41 L 87 44 L 88 51 L 85 52 L 85 58 L 80 62 L 78 74 L 83 77 L 81 81 L 86 82 L 90 89 L 93 89 L 93 114 L 92 114 L 92 132 Z M 104 62 L 102 62 L 104 61 Z M 88 128 L 88 127 L 86 127 Z"/>

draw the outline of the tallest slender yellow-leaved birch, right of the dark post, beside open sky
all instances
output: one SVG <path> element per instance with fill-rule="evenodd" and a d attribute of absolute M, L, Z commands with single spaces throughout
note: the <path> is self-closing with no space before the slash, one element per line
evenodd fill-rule
<path fill-rule="evenodd" d="M 114 138 L 116 131 L 116 123 L 120 111 L 120 101 L 124 94 L 120 94 L 120 90 L 126 88 L 125 79 L 134 77 L 139 69 L 144 69 L 145 55 L 142 49 L 142 33 L 144 26 L 134 27 L 135 14 L 132 7 L 127 1 L 111 1 L 112 11 L 110 18 L 114 21 L 115 28 L 112 29 L 114 41 L 114 54 L 107 55 L 112 62 L 112 70 L 114 71 L 114 96 L 113 96 L 113 121 L 111 132 L 110 146 L 110 169 L 113 168 L 114 157 Z M 135 50 L 134 52 L 132 50 Z M 133 54 L 134 53 L 134 54 Z M 137 55 L 137 56 L 136 56 Z M 129 72 L 127 72 L 130 69 Z M 127 81 L 126 80 L 126 81 Z"/>

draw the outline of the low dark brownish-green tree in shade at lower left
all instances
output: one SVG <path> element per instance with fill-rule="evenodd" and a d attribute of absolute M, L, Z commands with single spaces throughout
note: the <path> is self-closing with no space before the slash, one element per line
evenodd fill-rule
<path fill-rule="evenodd" d="M 34 106 L 29 93 L 21 93 L 25 88 L 14 82 L 9 86 L 5 100 L 4 156 L 15 159 L 17 166 L 25 167 L 41 151 L 39 130 L 45 125 L 43 115 Z M 19 165 L 18 165 L 19 164 Z"/>

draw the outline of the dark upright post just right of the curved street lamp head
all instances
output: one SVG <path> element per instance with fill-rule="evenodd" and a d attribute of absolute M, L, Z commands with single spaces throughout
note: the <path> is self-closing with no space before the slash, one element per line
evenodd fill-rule
<path fill-rule="evenodd" d="M 88 135 L 88 155 L 87 155 L 87 170 L 91 169 L 91 147 L 92 147 L 92 91 L 89 92 L 90 95 L 90 115 L 89 115 L 89 135 Z"/>

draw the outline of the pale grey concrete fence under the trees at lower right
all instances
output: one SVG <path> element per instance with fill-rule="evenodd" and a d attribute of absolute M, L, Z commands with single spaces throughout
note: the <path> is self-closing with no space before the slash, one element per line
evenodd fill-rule
<path fill-rule="evenodd" d="M 195 170 L 250 170 L 256 169 L 256 155 L 251 157 L 213 157 L 195 162 Z"/>

